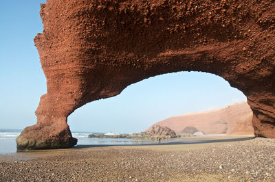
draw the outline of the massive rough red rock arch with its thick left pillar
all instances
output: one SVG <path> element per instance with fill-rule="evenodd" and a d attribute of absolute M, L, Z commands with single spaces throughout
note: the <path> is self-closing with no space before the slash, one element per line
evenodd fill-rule
<path fill-rule="evenodd" d="M 148 77 L 191 70 L 241 90 L 255 135 L 275 138 L 274 7 L 267 0 L 47 0 L 44 31 L 34 38 L 47 94 L 17 146 L 70 147 L 67 116 L 76 108 Z"/>

